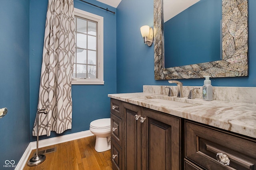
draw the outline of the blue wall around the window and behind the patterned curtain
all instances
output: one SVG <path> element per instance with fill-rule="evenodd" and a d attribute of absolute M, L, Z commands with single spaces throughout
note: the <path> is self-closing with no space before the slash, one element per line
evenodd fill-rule
<path fill-rule="evenodd" d="M 96 0 L 87 0 L 87 2 L 116 12 L 116 8 Z M 38 104 L 47 5 L 48 0 L 30 0 L 30 134 Z M 108 94 L 116 93 L 116 15 L 79 0 L 74 0 L 74 7 L 104 17 L 105 84 L 72 85 L 72 129 L 62 134 L 51 132 L 50 137 L 86 131 L 89 130 L 91 121 L 110 117 Z M 30 137 L 31 141 L 36 140 L 36 137 L 32 135 Z M 40 137 L 40 139 L 45 138 L 48 137 Z"/>

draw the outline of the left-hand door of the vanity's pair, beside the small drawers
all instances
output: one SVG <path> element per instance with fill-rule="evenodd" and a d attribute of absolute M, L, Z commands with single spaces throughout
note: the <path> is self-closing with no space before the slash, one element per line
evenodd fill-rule
<path fill-rule="evenodd" d="M 141 107 L 123 103 L 125 115 L 125 169 L 141 170 Z"/>

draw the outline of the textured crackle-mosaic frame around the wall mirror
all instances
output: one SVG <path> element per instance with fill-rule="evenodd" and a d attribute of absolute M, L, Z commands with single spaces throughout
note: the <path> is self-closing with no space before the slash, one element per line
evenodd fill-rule
<path fill-rule="evenodd" d="M 204 75 L 248 76 L 247 0 L 222 0 L 222 60 L 169 68 L 164 67 L 165 58 L 168 56 L 164 56 L 163 6 L 163 0 L 154 0 L 155 80 L 203 78 Z M 174 56 L 174 59 L 175 57 L 177 56 Z M 196 57 L 193 56 L 193 58 Z"/>

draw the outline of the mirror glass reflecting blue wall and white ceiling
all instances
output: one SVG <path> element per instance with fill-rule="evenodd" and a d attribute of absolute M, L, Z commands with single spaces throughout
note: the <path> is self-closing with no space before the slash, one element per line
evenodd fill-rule
<path fill-rule="evenodd" d="M 192 6 L 185 2 L 194 1 L 163 0 L 165 68 L 222 59 L 222 0 L 196 0 Z M 172 9 L 166 3 L 176 10 L 188 8 L 169 17 Z"/>

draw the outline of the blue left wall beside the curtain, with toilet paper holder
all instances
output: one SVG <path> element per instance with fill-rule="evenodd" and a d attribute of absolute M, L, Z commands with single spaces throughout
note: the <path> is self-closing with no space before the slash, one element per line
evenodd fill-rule
<path fill-rule="evenodd" d="M 31 134 L 29 0 L 1 0 L 0 16 L 0 108 L 8 108 L 0 119 L 0 169 L 11 170 L 14 167 L 5 168 L 5 161 L 18 164 Z"/>

